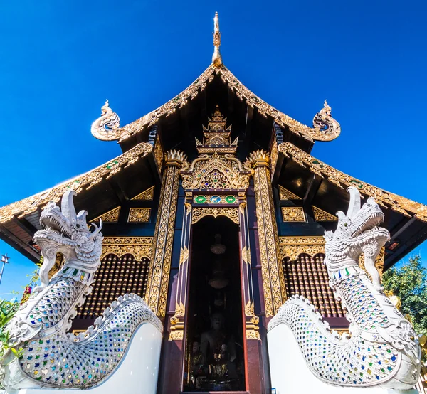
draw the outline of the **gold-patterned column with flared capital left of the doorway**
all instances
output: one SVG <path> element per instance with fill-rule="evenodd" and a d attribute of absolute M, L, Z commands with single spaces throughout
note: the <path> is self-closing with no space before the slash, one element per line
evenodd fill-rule
<path fill-rule="evenodd" d="M 159 211 L 154 230 L 152 264 L 149 267 L 145 296 L 147 304 L 157 316 L 164 316 L 166 313 L 167 287 L 171 270 L 176 203 L 178 201 L 179 169 L 185 163 L 186 158 L 181 152 L 167 152 Z"/>

